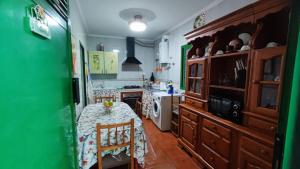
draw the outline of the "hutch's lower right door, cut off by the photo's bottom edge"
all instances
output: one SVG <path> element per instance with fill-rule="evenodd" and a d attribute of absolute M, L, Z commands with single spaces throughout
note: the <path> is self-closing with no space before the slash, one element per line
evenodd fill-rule
<path fill-rule="evenodd" d="M 258 160 L 254 155 L 241 150 L 239 169 L 272 169 L 272 165 Z"/>

